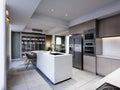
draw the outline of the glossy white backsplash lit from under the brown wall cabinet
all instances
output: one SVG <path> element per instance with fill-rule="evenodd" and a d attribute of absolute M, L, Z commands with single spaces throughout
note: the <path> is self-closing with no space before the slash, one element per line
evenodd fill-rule
<path fill-rule="evenodd" d="M 120 37 L 103 38 L 103 55 L 120 56 Z"/>

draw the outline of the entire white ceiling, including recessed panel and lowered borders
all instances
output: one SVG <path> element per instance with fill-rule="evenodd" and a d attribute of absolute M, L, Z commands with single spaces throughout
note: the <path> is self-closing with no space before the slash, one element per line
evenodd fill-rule
<path fill-rule="evenodd" d="M 34 28 L 46 33 L 60 32 L 120 10 L 119 0 L 7 0 L 7 3 L 13 31 Z"/>

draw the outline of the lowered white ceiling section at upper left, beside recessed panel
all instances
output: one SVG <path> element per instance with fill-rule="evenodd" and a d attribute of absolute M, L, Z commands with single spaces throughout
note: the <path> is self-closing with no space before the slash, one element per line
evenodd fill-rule
<path fill-rule="evenodd" d="M 9 0 L 11 28 L 24 30 L 41 0 Z M 17 24 L 19 23 L 19 24 Z"/>

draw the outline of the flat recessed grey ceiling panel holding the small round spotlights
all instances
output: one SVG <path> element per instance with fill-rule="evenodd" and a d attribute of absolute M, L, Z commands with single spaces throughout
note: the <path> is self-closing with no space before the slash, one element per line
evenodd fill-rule
<path fill-rule="evenodd" d="M 36 12 L 71 21 L 105 7 L 114 1 L 117 0 L 42 0 Z"/>

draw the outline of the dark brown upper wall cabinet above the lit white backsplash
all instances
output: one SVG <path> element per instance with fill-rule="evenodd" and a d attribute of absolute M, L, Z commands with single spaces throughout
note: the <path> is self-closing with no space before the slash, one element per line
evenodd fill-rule
<path fill-rule="evenodd" d="M 99 21 L 99 37 L 120 36 L 120 14 Z"/>

